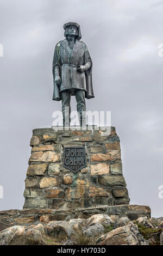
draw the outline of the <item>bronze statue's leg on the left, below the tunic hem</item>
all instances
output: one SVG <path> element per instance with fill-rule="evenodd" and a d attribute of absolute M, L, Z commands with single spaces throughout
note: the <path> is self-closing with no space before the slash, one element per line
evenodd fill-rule
<path fill-rule="evenodd" d="M 71 92 L 65 90 L 61 92 L 61 102 L 62 102 L 62 114 L 63 114 L 63 126 L 70 126 L 70 113 L 71 113 Z"/>

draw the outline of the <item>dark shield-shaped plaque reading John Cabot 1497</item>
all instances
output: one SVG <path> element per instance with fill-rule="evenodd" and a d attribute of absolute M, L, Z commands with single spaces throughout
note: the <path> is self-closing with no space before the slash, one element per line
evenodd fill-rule
<path fill-rule="evenodd" d="M 63 162 L 63 166 L 74 173 L 86 167 L 85 147 L 64 147 Z"/>

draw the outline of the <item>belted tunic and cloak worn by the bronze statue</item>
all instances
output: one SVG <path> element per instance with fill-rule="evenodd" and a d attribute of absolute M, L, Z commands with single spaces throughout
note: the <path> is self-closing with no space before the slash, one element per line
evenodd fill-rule
<path fill-rule="evenodd" d="M 79 65 L 90 63 L 90 68 L 85 72 L 77 71 Z M 53 58 L 53 76 L 55 79 L 56 70 L 61 77 L 61 84 L 57 86 L 54 82 L 53 100 L 61 100 L 60 93 L 64 90 L 71 90 L 71 95 L 76 89 L 84 90 L 85 97 L 94 97 L 92 89 L 92 60 L 84 42 L 76 39 L 73 48 L 70 47 L 67 39 L 60 41 L 55 46 Z"/>

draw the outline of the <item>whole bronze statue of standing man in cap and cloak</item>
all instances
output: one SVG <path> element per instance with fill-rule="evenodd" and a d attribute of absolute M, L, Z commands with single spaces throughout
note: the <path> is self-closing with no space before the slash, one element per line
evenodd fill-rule
<path fill-rule="evenodd" d="M 53 100 L 62 104 L 63 125 L 70 125 L 71 95 L 76 96 L 80 126 L 85 126 L 85 98 L 94 97 L 92 88 L 92 60 L 76 22 L 64 25 L 65 38 L 55 46 L 53 58 Z M 82 118 L 83 117 L 83 118 Z M 67 121 L 66 121 L 67 120 Z"/>

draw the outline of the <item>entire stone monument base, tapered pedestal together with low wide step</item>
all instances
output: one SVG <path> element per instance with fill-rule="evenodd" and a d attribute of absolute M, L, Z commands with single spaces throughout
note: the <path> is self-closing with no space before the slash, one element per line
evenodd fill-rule
<path fill-rule="evenodd" d="M 129 205 L 115 127 L 35 129 L 30 145 L 23 210 L 0 211 L 0 231 L 12 225 L 68 221 L 95 214 L 130 220 L 151 217 L 148 206 Z M 66 148 L 75 148 L 77 169 L 65 164 Z M 76 148 L 83 151 L 77 154 Z M 79 161 L 81 157 L 83 161 Z"/>

